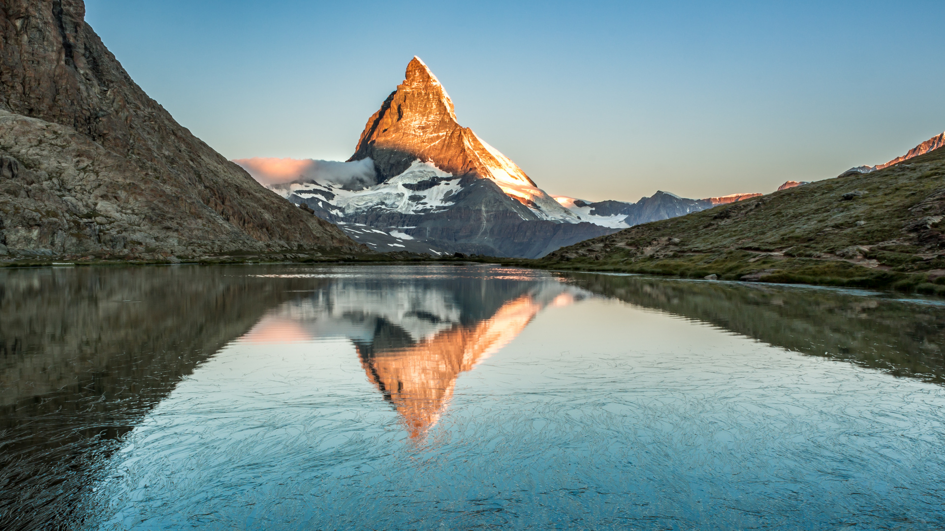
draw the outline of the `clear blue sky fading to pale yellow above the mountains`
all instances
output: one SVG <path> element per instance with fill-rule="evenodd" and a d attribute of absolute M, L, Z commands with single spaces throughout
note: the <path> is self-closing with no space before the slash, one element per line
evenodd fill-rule
<path fill-rule="evenodd" d="M 945 3 L 86 0 L 228 159 L 346 160 L 417 55 L 553 195 L 771 192 L 945 130 Z"/>

